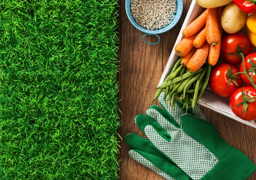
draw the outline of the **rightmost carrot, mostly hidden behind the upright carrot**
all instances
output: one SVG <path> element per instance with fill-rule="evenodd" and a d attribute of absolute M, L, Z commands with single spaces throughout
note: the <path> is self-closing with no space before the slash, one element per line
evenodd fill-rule
<path fill-rule="evenodd" d="M 218 7 L 218 30 L 220 32 L 220 35 L 222 34 L 222 26 L 221 26 L 221 14 L 223 12 L 224 6 Z M 215 45 L 210 46 L 209 54 L 208 54 L 208 63 L 212 66 L 215 66 L 218 62 L 218 59 L 220 57 L 220 51 L 221 51 L 221 41 Z"/>

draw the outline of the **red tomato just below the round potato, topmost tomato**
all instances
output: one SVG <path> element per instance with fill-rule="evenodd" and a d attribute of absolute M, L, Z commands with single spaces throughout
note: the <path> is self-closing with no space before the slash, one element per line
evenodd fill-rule
<path fill-rule="evenodd" d="M 247 44 L 247 48 L 246 47 Z M 232 64 L 237 65 L 242 61 L 239 52 L 247 56 L 252 51 L 250 39 L 241 33 L 228 34 L 221 39 L 221 56 L 223 59 Z M 228 55 L 233 54 L 233 55 Z"/>

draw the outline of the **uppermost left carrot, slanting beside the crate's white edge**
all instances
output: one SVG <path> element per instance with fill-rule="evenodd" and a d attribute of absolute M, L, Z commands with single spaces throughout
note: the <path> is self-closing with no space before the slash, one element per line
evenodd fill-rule
<path fill-rule="evenodd" d="M 183 29 L 182 35 L 183 37 L 191 37 L 195 33 L 197 33 L 206 23 L 207 20 L 208 9 L 206 9 L 198 18 L 196 18 L 192 23 L 186 26 Z"/>

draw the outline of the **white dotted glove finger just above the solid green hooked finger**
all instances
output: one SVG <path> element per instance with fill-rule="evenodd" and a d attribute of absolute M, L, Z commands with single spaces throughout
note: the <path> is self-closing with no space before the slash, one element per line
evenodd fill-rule
<path fill-rule="evenodd" d="M 146 115 L 148 116 L 148 118 L 152 118 L 157 121 L 157 123 L 160 124 L 160 126 L 163 127 L 166 132 L 175 131 L 175 129 L 180 128 L 179 125 L 176 126 L 175 124 L 173 124 L 172 121 L 169 121 L 169 119 L 163 117 L 163 115 L 154 108 L 148 109 Z M 175 120 L 173 119 L 173 121 Z"/>

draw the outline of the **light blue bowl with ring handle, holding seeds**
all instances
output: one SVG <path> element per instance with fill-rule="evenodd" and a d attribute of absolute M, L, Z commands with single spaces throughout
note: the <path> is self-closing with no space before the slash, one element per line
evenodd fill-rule
<path fill-rule="evenodd" d="M 143 35 L 143 40 L 144 41 L 145 41 L 144 37 L 146 35 L 153 34 L 153 35 L 158 37 L 158 42 L 157 43 L 159 43 L 160 42 L 160 37 L 157 34 L 161 34 L 161 33 L 164 33 L 166 31 L 169 31 L 180 20 L 180 17 L 181 17 L 182 11 L 183 11 L 183 0 L 176 0 L 176 3 L 177 3 L 177 11 L 176 11 L 176 13 L 173 13 L 175 15 L 175 17 L 172 20 L 172 22 L 169 25 L 167 25 L 166 27 L 161 28 L 161 29 L 157 29 L 157 30 L 148 30 L 148 29 L 145 29 L 145 28 L 141 27 L 140 25 L 138 25 L 136 23 L 136 21 L 133 19 L 132 15 L 131 15 L 131 0 L 126 0 L 125 1 L 125 11 L 126 11 L 126 14 L 129 18 L 130 22 L 135 26 L 135 28 L 137 28 L 140 31 L 143 31 L 144 33 L 146 33 L 146 34 Z M 145 42 L 147 42 L 147 41 L 145 41 Z M 151 44 L 151 45 L 157 44 L 157 43 L 150 43 L 150 42 L 147 42 L 147 43 Z"/>

